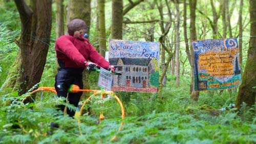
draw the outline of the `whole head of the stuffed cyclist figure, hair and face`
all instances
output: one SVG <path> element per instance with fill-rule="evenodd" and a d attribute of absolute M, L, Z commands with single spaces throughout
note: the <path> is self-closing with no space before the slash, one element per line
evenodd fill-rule
<path fill-rule="evenodd" d="M 87 31 L 86 22 L 82 19 L 75 18 L 69 22 L 68 25 L 68 33 L 74 37 L 82 37 Z"/>

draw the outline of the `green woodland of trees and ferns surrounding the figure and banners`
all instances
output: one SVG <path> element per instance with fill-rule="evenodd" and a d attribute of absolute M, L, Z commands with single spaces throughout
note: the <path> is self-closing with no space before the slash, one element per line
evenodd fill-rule
<path fill-rule="evenodd" d="M 118 143 L 256 142 L 255 12 L 252 0 L 0 1 L 0 143 L 105 143 L 114 135 Z M 75 119 L 59 116 L 55 105 L 63 102 L 54 94 L 20 101 L 34 86 L 54 86 L 55 40 L 75 17 L 87 22 L 90 42 L 103 56 L 110 38 L 161 43 L 160 92 L 117 91 L 126 112 L 122 131 L 112 100 L 101 107 L 107 113 L 99 125 L 83 116 L 82 134 Z M 228 37 L 239 40 L 241 86 L 194 91 L 191 41 Z M 98 88 L 98 74 L 83 75 L 84 88 Z M 95 113 L 98 101 L 91 105 Z M 46 135 L 50 122 L 61 125 Z"/>

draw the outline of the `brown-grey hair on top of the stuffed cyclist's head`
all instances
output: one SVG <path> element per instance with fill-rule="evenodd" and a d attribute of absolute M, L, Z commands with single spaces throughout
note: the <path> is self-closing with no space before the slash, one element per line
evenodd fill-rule
<path fill-rule="evenodd" d="M 74 18 L 69 22 L 69 25 L 68 25 L 69 35 L 73 36 L 75 31 L 79 31 L 82 29 L 87 30 L 86 22 L 84 22 L 82 19 Z"/>

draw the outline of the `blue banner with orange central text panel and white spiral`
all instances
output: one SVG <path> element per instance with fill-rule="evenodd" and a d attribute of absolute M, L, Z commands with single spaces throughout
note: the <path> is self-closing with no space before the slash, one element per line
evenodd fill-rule
<path fill-rule="evenodd" d="M 193 41 L 195 90 L 216 90 L 241 84 L 236 38 Z"/>

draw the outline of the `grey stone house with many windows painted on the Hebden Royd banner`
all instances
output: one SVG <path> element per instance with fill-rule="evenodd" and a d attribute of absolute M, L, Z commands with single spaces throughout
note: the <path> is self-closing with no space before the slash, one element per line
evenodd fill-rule
<path fill-rule="evenodd" d="M 148 58 L 110 58 L 111 65 L 122 75 L 114 77 L 113 87 L 150 88 L 150 75 L 155 72 L 155 64 Z"/>

